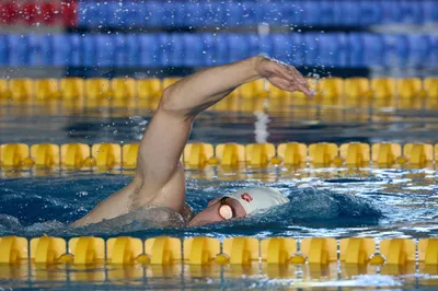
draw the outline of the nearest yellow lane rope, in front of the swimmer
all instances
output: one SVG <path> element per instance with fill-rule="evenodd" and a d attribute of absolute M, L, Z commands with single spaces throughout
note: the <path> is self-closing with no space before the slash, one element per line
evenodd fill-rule
<path fill-rule="evenodd" d="M 379 247 L 379 253 L 377 249 Z M 337 253 L 339 248 L 339 254 Z M 106 252 L 105 252 L 106 251 Z M 20 236 L 0 237 L 0 263 L 10 265 L 59 263 L 70 264 L 124 264 L 172 265 L 246 265 L 267 264 L 316 264 L 327 265 L 343 261 L 354 265 L 405 266 L 424 263 L 437 266 L 438 238 L 385 238 L 376 243 L 370 237 L 267 237 L 250 236 L 218 238 L 195 236 L 180 240 L 158 236 L 146 241 L 131 236 L 107 240 L 94 236 L 61 237 L 42 236 L 30 241 Z M 91 265 L 91 268 L 96 268 Z M 91 269 L 90 268 L 90 269 Z M 87 269 L 87 268 L 84 268 Z"/>

